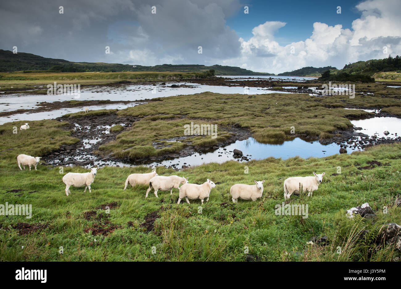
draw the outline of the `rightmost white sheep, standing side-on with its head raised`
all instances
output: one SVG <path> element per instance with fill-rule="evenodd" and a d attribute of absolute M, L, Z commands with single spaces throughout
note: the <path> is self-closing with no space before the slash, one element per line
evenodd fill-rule
<path fill-rule="evenodd" d="M 304 192 L 308 191 L 308 197 L 313 195 L 313 191 L 316 191 L 319 184 L 322 183 L 322 179 L 325 173 L 312 177 L 291 177 L 284 181 L 284 200 L 290 199 L 292 193 L 299 193 L 300 184 Z"/>

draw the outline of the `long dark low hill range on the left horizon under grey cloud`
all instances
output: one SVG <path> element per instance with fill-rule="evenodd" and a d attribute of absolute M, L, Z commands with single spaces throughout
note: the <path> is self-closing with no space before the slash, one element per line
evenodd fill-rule
<path fill-rule="evenodd" d="M 264 72 L 253 72 L 235 66 L 201 64 L 162 64 L 142 66 L 105 62 L 71 62 L 64 59 L 45 58 L 31 53 L 0 49 L 0 72 L 207 72 L 215 70 L 216 75 L 274 75 Z"/>

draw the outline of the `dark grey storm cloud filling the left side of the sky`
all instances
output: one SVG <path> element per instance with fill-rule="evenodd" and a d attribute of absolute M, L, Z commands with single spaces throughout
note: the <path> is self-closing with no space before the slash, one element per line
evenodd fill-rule
<path fill-rule="evenodd" d="M 238 0 L 4 1 L 0 48 L 71 61 L 213 62 L 239 55 L 239 36 L 225 19 L 240 8 Z"/>

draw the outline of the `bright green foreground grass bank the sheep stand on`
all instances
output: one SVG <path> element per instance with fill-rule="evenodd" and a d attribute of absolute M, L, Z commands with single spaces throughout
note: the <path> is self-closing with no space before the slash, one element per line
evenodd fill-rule
<path fill-rule="evenodd" d="M 159 192 L 156 199 L 151 192 L 144 198 L 146 187 L 123 191 L 130 173 L 147 173 L 144 167 L 106 167 L 98 171 L 92 193 L 84 188 L 71 188 L 65 195 L 63 174 L 86 172 L 78 167 L 39 166 L 38 171 L 19 171 L 13 161 L 0 163 L 0 203 L 32 204 L 32 219 L 24 216 L 0 216 L 1 261 L 243 261 L 245 246 L 249 254 L 265 261 L 388 261 L 398 256 L 391 245 L 386 245 L 372 256 L 367 255 L 364 240 L 356 240 L 355 228 L 373 229 L 388 222 L 401 223 L 401 208 L 393 207 L 394 196 L 400 193 L 401 144 L 380 145 L 351 155 L 333 155 L 317 159 L 298 157 L 280 160 L 268 158 L 244 165 L 235 161 L 211 163 L 176 172 L 159 167 L 159 175 L 189 177 L 190 183 L 203 183 L 207 178 L 217 183 L 210 200 L 198 210 L 201 202 L 177 205 L 178 190 L 173 195 Z M 381 167 L 360 171 L 367 161 L 376 160 Z M 341 174 L 337 173 L 338 166 Z M 308 218 L 277 216 L 275 205 L 284 201 L 282 183 L 294 175 L 311 175 L 312 171 L 326 172 L 323 183 L 313 196 L 292 196 L 290 204 L 308 204 Z M 264 193 L 256 202 L 232 204 L 229 188 L 235 183 L 265 180 Z M 7 192 L 23 189 L 18 193 Z M 21 194 L 21 195 L 18 195 Z M 118 202 L 107 214 L 96 209 L 101 204 Z M 346 220 L 346 209 L 369 202 L 377 211 L 376 225 L 356 218 Z M 227 204 L 224 204 L 227 203 Z M 383 214 L 383 206 L 389 213 Z M 106 235 L 85 233 L 85 228 L 98 223 L 85 220 L 83 213 L 96 211 L 101 225 L 117 225 Z M 149 213 L 158 217 L 150 232 L 140 224 Z M 100 215 L 102 214 L 102 215 Z M 341 215 L 342 214 L 342 215 Z M 105 217 L 108 216 L 108 217 Z M 106 222 L 105 222 L 106 220 Z M 19 235 L 12 229 L 17 222 L 46 223 L 42 231 Z M 128 225 L 129 222 L 130 226 Z M 358 231 L 357 231 L 358 232 Z M 326 247 L 307 244 L 314 235 L 327 235 L 332 241 Z M 347 237 L 351 236 L 351 237 Z M 21 247 L 24 246 L 24 249 Z M 59 254 L 59 247 L 64 253 Z M 156 253 L 152 254 L 152 247 Z M 336 254 L 337 246 L 342 254 Z M 369 246 L 368 246 L 369 247 Z M 295 252 L 301 252 L 299 257 Z"/>

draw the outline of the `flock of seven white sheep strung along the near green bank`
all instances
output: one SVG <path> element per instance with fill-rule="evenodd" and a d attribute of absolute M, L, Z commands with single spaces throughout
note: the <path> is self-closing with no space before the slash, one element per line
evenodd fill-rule
<path fill-rule="evenodd" d="M 35 167 L 38 165 L 40 161 L 40 157 L 31 157 L 28 155 L 18 155 L 17 163 L 18 167 L 21 169 L 21 166 L 29 166 L 29 170 L 31 166 Z M 63 177 L 63 183 L 65 183 L 65 194 L 71 194 L 69 188 L 73 187 L 83 187 L 85 186 L 84 193 L 86 189 L 89 188 L 89 193 L 91 193 L 91 184 L 95 180 L 95 176 L 97 173 L 97 168 L 91 168 L 89 173 L 67 173 Z M 21 169 L 22 170 L 22 169 Z M 319 184 L 322 183 L 322 179 L 325 173 L 316 174 L 313 173 L 314 176 L 310 177 L 290 177 L 284 181 L 284 199 L 290 199 L 290 196 L 293 193 L 300 193 L 300 188 L 302 190 L 308 192 L 308 197 L 312 196 L 313 191 L 316 191 L 319 187 Z M 243 200 L 252 200 L 256 201 L 263 194 L 263 181 L 254 181 L 255 185 L 246 185 L 246 184 L 235 184 L 230 188 L 230 194 L 232 196 L 233 203 L 238 203 L 238 199 L 241 198 Z M 157 192 L 160 191 L 170 191 L 170 195 L 172 195 L 173 189 L 178 189 L 179 198 L 177 204 L 181 202 L 182 199 L 186 199 L 186 202 L 189 204 L 189 200 L 200 199 L 203 204 L 203 200 L 206 198 L 206 201 L 209 201 L 209 195 L 211 189 L 215 188 L 216 185 L 211 180 L 207 179 L 207 181 L 201 185 L 190 184 L 188 183 L 188 178 L 178 177 L 176 175 L 173 176 L 159 176 L 156 171 L 152 173 L 146 174 L 131 174 L 128 176 L 124 191 L 127 189 L 128 184 L 132 187 L 136 185 L 149 185 L 148 190 L 146 191 L 145 198 L 148 197 L 148 194 L 151 189 L 154 189 L 154 195 L 158 198 Z M 180 187 L 181 185 L 181 187 Z"/>

